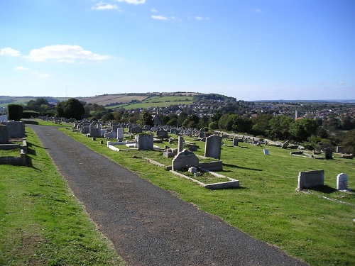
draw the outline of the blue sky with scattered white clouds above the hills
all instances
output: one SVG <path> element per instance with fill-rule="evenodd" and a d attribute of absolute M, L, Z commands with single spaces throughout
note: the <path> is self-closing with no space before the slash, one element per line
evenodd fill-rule
<path fill-rule="evenodd" d="M 129 92 L 355 99 L 355 1 L 0 1 L 0 95 Z"/>

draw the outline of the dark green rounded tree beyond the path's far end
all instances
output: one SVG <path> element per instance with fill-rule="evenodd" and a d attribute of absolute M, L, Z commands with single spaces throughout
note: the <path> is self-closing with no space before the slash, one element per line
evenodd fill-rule
<path fill-rule="evenodd" d="M 56 111 L 58 117 L 75 118 L 76 120 L 80 120 L 85 113 L 84 106 L 75 98 L 60 101 L 60 103 L 57 104 Z"/>

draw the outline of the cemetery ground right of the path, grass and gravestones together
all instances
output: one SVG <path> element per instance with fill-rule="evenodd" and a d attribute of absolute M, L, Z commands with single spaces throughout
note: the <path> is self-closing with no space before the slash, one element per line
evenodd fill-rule
<path fill-rule="evenodd" d="M 127 125 L 75 124 L 58 129 L 253 237 L 283 246 L 311 265 L 339 256 L 333 242 L 349 246 L 344 232 L 353 235 L 355 197 L 351 189 L 355 187 L 355 172 L 353 160 L 342 157 L 342 153 L 334 152 L 326 160 L 324 152 L 312 154 L 294 148 L 292 143 L 282 148 L 283 143 L 219 132 L 200 138 L 200 131 L 194 129 L 153 127 L 131 133 Z M 92 137 L 90 127 L 91 133 L 99 135 Z M 162 129 L 168 131 L 168 138 L 156 135 Z M 147 138 L 143 148 L 141 135 Z M 214 135 L 220 137 L 221 145 L 211 153 L 209 137 Z M 180 160 L 181 155 L 191 157 L 186 162 Z M 234 182 L 234 187 L 209 187 L 228 182 Z M 308 224 L 315 226 L 309 228 Z M 324 228 L 329 226 L 337 232 L 335 235 L 324 235 Z M 315 256 L 314 242 L 324 243 L 322 254 L 328 255 Z M 302 249 L 302 253 L 295 249 Z M 349 248 L 342 253 L 346 253 L 344 262 L 349 261 Z"/>

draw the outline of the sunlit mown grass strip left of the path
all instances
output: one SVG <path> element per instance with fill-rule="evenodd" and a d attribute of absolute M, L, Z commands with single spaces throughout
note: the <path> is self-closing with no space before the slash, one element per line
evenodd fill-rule
<path fill-rule="evenodd" d="M 26 167 L 0 165 L 0 265 L 124 265 L 31 128 Z"/>

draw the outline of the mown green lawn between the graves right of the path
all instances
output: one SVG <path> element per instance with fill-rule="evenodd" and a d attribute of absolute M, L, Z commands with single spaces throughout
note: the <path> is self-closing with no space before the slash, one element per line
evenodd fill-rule
<path fill-rule="evenodd" d="M 244 148 L 232 147 L 231 140 L 224 140 L 224 170 L 220 173 L 239 179 L 241 187 L 208 190 L 162 167 L 149 165 L 140 157 L 133 159 L 135 152 L 117 153 L 80 133 L 61 130 L 180 199 L 310 265 L 355 265 L 355 196 L 335 189 L 341 172 L 349 175 L 349 187 L 355 187 L 354 160 L 316 160 L 293 156 L 290 150 L 277 147 L 244 143 Z M 196 154 L 203 155 L 204 143 L 197 144 L 200 149 Z M 268 148 L 270 155 L 264 155 L 263 148 Z M 160 160 L 157 153 L 144 153 Z M 295 191 L 298 172 L 321 169 L 325 171 L 322 189 Z"/>

